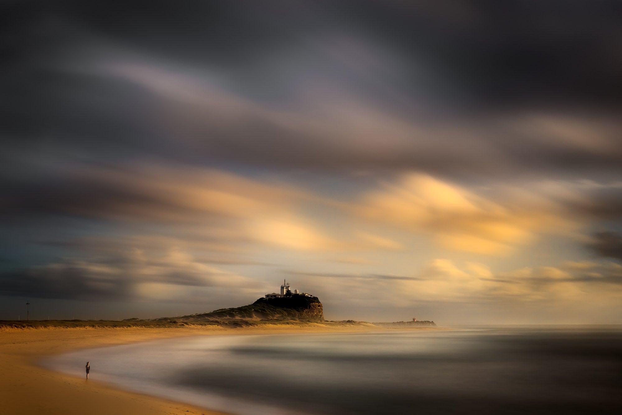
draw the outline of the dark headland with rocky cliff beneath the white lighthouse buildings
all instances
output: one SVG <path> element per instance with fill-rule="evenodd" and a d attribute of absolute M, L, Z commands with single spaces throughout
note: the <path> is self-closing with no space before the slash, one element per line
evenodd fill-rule
<path fill-rule="evenodd" d="M 187 316 L 187 320 L 324 320 L 322 303 L 317 297 L 292 295 L 284 298 L 259 298 L 242 307 L 222 308 L 211 313 Z"/>

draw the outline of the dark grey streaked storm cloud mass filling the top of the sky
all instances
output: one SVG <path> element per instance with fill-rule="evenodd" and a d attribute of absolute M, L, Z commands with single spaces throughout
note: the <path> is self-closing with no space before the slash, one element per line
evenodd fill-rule
<path fill-rule="evenodd" d="M 618 2 L 3 9 L 13 173 L 145 156 L 450 175 L 620 171 Z"/>

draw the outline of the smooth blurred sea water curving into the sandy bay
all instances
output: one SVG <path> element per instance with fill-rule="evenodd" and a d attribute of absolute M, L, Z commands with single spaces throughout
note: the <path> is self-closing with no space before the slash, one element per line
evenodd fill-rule
<path fill-rule="evenodd" d="M 622 413 L 621 327 L 193 336 L 44 366 L 240 415 Z"/>

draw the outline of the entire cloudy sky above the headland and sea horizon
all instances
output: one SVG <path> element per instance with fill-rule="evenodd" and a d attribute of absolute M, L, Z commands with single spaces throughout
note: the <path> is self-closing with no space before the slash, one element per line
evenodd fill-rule
<path fill-rule="evenodd" d="M 622 323 L 618 1 L 4 1 L 0 318 L 292 288 Z"/>

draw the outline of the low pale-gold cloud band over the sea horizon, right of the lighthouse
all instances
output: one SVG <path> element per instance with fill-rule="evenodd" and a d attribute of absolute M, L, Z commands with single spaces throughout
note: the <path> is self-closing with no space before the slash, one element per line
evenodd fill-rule
<path fill-rule="evenodd" d="M 596 322 L 617 318 L 622 266 L 615 262 L 565 262 L 496 272 L 480 262 L 462 265 L 430 260 L 411 275 L 286 272 L 297 284 L 312 285 L 327 308 L 395 308 L 411 313 L 434 308 L 453 321 L 468 322 L 458 310 L 490 315 L 493 322 Z M 335 289 L 338 287 L 338 289 Z M 351 295 L 344 296 L 343 293 Z M 373 312 L 361 312 L 374 315 Z M 517 314 L 518 313 L 518 314 Z M 583 313 L 583 315 L 581 315 Z M 600 316 L 599 316 L 600 313 Z M 368 317 L 369 318 L 369 317 Z"/>

